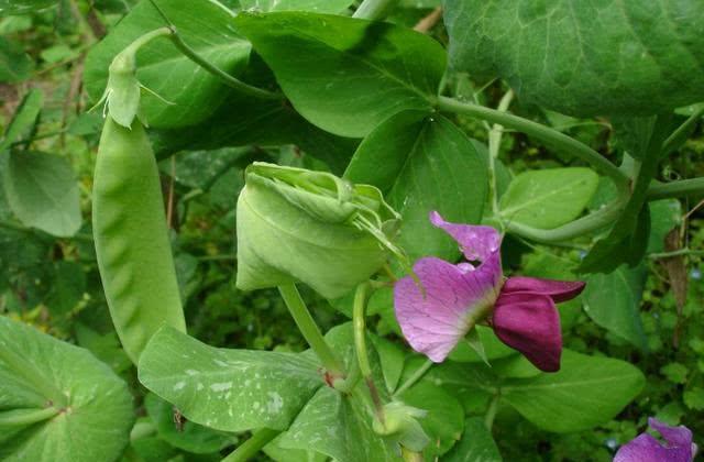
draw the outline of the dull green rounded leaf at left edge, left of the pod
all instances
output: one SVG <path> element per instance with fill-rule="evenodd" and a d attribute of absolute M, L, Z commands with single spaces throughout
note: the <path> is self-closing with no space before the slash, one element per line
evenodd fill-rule
<path fill-rule="evenodd" d="M 78 184 L 70 163 L 44 153 L 12 152 L 2 169 L 10 208 L 26 227 L 57 237 L 81 224 Z"/>

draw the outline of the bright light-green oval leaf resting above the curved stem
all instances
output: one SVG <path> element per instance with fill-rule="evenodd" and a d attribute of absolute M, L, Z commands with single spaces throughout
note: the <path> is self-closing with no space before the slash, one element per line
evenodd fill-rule
<path fill-rule="evenodd" d="M 504 220 L 539 229 L 558 228 L 578 218 L 592 199 L 598 175 L 590 168 L 524 172 L 501 200 Z"/>

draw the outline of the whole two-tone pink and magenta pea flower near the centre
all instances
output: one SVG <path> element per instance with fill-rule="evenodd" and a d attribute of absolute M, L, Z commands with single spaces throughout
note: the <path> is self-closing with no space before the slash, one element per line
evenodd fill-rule
<path fill-rule="evenodd" d="M 466 262 L 424 257 L 394 287 L 396 318 L 410 346 L 439 363 L 464 336 L 486 320 L 496 337 L 538 369 L 560 369 L 562 334 L 556 302 L 576 297 L 582 282 L 509 277 L 501 262 L 501 235 L 491 227 L 449 223 L 437 211 L 430 222 L 460 244 Z M 474 262 L 470 263 L 470 262 Z"/>

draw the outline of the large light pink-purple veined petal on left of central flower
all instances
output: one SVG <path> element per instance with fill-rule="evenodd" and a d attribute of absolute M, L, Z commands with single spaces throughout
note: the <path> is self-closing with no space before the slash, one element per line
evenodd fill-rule
<path fill-rule="evenodd" d="M 426 257 L 414 265 L 422 290 L 411 277 L 396 283 L 396 319 L 414 350 L 442 362 L 470 328 L 490 312 L 502 279 L 498 258 L 495 252 L 472 268 Z"/>

